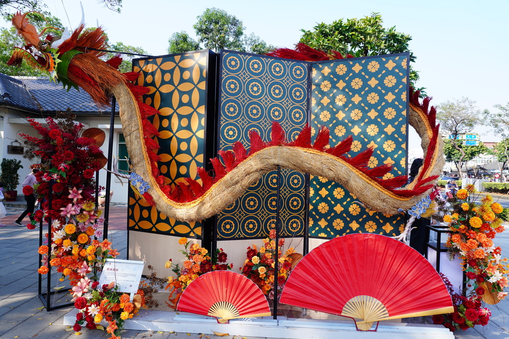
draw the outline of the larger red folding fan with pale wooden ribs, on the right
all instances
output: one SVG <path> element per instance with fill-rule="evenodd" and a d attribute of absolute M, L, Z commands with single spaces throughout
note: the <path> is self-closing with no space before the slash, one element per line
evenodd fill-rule
<path fill-rule="evenodd" d="M 395 239 L 369 233 L 334 238 L 305 255 L 280 302 L 353 318 L 361 330 L 380 320 L 454 311 L 428 260 Z"/>

